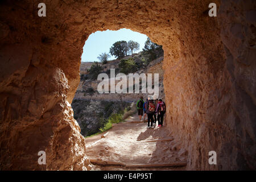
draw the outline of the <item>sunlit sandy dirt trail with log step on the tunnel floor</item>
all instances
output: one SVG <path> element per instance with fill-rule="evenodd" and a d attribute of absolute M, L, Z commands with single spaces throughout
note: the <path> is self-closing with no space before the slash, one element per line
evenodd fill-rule
<path fill-rule="evenodd" d="M 166 127 L 146 127 L 137 115 L 129 117 L 86 138 L 86 155 L 96 170 L 184 170 L 186 153 L 173 147 L 176 143 Z"/>

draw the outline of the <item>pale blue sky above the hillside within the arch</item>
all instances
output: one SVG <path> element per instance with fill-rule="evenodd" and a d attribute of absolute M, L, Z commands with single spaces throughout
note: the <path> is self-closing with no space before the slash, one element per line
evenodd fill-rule
<path fill-rule="evenodd" d="M 112 47 L 115 42 L 120 40 L 125 40 L 126 42 L 129 40 L 134 40 L 139 43 L 139 51 L 142 51 L 142 48 L 144 48 L 144 43 L 147 40 L 147 36 L 126 28 L 122 28 L 118 31 L 97 31 L 91 34 L 86 40 L 81 61 L 98 61 L 98 55 L 103 52 L 109 53 L 110 47 Z M 139 51 L 136 51 L 135 53 L 138 53 Z M 109 58 L 109 60 L 113 59 L 115 59 L 114 56 Z"/>

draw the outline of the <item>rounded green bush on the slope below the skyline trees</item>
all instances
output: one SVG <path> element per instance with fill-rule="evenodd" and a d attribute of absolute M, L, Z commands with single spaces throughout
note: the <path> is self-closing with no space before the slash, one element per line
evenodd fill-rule
<path fill-rule="evenodd" d="M 133 58 L 122 59 L 118 64 L 118 67 L 120 68 L 120 72 L 125 74 L 134 73 L 138 69 Z"/>

